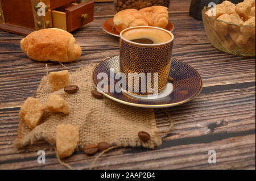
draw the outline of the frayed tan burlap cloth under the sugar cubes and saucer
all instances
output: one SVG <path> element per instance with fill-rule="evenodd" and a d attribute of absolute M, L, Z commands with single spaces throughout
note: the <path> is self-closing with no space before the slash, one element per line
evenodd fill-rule
<path fill-rule="evenodd" d="M 64 115 L 47 111 L 40 124 L 32 130 L 20 120 L 18 138 L 14 142 L 18 148 L 39 140 L 55 146 L 56 127 L 59 124 L 79 127 L 77 150 L 101 141 L 118 147 L 143 146 L 150 149 L 162 144 L 153 109 L 126 106 L 108 98 L 96 99 L 92 96 L 91 91 L 95 89 L 92 82 L 94 67 L 91 64 L 73 72 L 69 71 L 71 85 L 79 86 L 79 91 L 75 94 L 67 94 L 63 89 L 51 92 L 47 76 L 42 78 L 36 98 L 45 103 L 49 94 L 58 94 L 68 102 L 70 112 Z M 140 131 L 150 133 L 151 140 L 141 141 L 138 137 Z"/>

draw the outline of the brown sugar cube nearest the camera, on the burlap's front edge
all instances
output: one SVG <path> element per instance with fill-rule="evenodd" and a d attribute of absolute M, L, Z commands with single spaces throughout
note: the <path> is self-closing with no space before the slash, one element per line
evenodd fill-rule
<path fill-rule="evenodd" d="M 56 151 L 60 158 L 73 154 L 79 143 L 79 128 L 72 124 L 59 124 L 56 128 Z"/>

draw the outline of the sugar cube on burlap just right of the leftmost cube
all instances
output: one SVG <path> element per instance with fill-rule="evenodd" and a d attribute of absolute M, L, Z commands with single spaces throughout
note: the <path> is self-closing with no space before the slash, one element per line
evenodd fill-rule
<path fill-rule="evenodd" d="M 63 112 L 65 115 L 69 113 L 68 103 L 59 95 L 51 94 L 46 100 L 46 109 L 52 113 Z"/>

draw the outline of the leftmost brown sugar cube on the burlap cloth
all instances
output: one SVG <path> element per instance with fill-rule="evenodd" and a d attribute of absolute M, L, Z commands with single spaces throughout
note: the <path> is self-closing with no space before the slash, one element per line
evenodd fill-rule
<path fill-rule="evenodd" d="M 44 104 L 40 103 L 38 99 L 29 97 L 22 104 L 19 117 L 25 121 L 28 128 L 33 129 L 38 125 L 45 111 L 46 106 Z"/>

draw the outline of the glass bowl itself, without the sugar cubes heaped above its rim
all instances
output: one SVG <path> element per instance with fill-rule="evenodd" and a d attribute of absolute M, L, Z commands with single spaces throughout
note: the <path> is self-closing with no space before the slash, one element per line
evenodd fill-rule
<path fill-rule="evenodd" d="M 226 53 L 255 56 L 255 26 L 240 26 L 214 19 L 205 14 L 209 9 L 210 7 L 204 7 L 202 18 L 210 43 Z M 251 32 L 250 35 L 243 35 L 241 28 L 243 32 Z"/>

